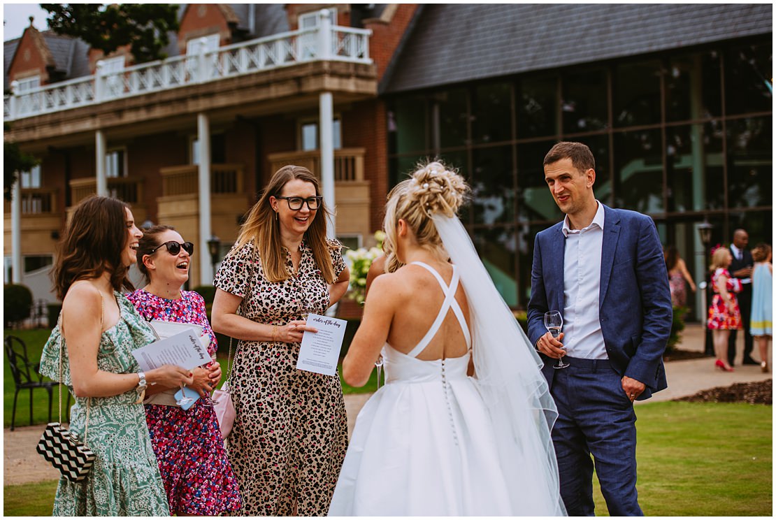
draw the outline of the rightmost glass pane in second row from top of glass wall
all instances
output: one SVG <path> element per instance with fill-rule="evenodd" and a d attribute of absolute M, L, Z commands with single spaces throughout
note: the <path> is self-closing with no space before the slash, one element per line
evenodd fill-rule
<path fill-rule="evenodd" d="M 728 205 L 773 203 L 773 132 L 771 118 L 728 121 Z"/>

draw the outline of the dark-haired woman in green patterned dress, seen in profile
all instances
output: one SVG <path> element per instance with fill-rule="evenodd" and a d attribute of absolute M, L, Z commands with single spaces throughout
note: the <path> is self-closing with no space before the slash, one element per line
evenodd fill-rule
<path fill-rule="evenodd" d="M 61 369 L 62 383 L 75 395 L 71 431 L 96 458 L 85 480 L 61 477 L 56 516 L 170 514 L 142 396 L 146 384 L 171 387 L 192 377 L 171 365 L 142 373 L 132 356 L 154 341 L 120 293 L 122 286 L 132 288 L 127 270 L 141 236 L 125 203 L 94 196 L 78 205 L 60 244 L 53 276 L 62 313 L 43 347 L 40 373 L 59 380 Z"/>

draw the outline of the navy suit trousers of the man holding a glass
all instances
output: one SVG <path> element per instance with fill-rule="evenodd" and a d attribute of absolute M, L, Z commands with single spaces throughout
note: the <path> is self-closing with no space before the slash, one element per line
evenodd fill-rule
<path fill-rule="evenodd" d="M 594 516 L 593 465 L 611 516 L 643 516 L 636 492 L 636 413 L 607 359 L 563 358 L 553 374 L 553 442 L 570 516 Z M 592 455 L 592 459 L 591 459 Z"/>

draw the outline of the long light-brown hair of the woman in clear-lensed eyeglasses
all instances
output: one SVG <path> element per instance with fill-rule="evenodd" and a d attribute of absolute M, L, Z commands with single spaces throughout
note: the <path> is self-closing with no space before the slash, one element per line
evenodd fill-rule
<path fill-rule="evenodd" d="M 230 255 L 234 255 L 244 244 L 253 241 L 262 262 L 264 275 L 269 282 L 273 283 L 289 279 L 291 273 L 286 267 L 286 258 L 282 252 L 279 220 L 272 210 L 269 197 L 280 196 L 286 183 L 293 179 L 311 182 L 315 186 L 315 195 L 320 196 L 320 182 L 310 170 L 302 166 L 283 166 L 275 172 L 275 175 L 272 175 L 258 203 L 255 203 L 248 212 L 248 217 L 237 236 L 237 244 L 229 251 Z M 334 283 L 334 267 L 331 265 L 331 250 L 334 246 L 326 239 L 326 220 L 329 214 L 326 204 L 321 201 L 315 218 L 304 233 L 304 241 L 307 247 L 313 250 L 315 264 L 321 276 L 327 283 Z"/>

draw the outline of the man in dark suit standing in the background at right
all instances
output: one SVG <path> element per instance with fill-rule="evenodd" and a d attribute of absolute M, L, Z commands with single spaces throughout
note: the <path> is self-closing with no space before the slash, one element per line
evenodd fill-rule
<path fill-rule="evenodd" d="M 741 310 L 741 321 L 743 321 L 743 364 L 759 365 L 760 363 L 752 359 L 754 341 L 749 333 L 749 323 L 752 318 L 752 266 L 754 261 L 751 251 L 747 249 L 747 244 L 749 244 L 747 231 L 737 229 L 733 232 L 733 244 L 730 245 L 733 262 L 730 262 L 728 270 L 730 276 L 741 281 L 741 292 L 736 295 L 736 299 Z M 733 366 L 733 362 L 736 360 L 736 338 L 738 338 L 738 331 L 730 331 L 728 339 L 730 366 Z"/>

